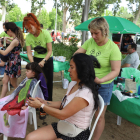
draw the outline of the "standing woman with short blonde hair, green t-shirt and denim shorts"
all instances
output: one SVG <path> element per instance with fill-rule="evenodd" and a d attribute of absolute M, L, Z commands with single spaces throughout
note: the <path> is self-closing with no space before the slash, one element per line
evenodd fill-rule
<path fill-rule="evenodd" d="M 92 38 L 87 40 L 75 53 L 93 55 L 99 61 L 101 68 L 95 68 L 95 82 L 101 84 L 98 93 L 104 99 L 104 110 L 94 131 L 93 140 L 98 140 L 105 126 L 105 112 L 113 90 L 113 79 L 118 76 L 121 67 L 121 53 L 118 46 L 108 39 L 109 25 L 103 18 L 95 18 L 88 28 Z M 97 116 L 98 111 L 95 116 Z"/>

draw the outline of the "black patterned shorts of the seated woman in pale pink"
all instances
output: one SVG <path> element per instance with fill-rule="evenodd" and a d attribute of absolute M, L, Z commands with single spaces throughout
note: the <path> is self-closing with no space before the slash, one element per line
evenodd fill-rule
<path fill-rule="evenodd" d="M 54 132 L 57 136 L 57 138 L 61 138 L 63 140 L 88 140 L 89 135 L 90 135 L 90 131 L 89 129 L 82 131 L 80 134 L 78 134 L 76 137 L 67 137 L 65 135 L 60 134 L 57 131 L 57 123 L 52 123 L 52 127 L 54 129 Z"/>

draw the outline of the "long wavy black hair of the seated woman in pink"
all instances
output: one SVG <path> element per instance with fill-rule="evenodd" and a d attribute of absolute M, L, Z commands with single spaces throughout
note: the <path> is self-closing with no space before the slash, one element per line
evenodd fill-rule
<path fill-rule="evenodd" d="M 82 88 L 84 84 L 93 93 L 95 101 L 95 109 L 98 107 L 98 87 L 99 85 L 94 82 L 95 71 L 94 68 L 100 68 L 98 60 L 94 56 L 89 56 L 84 53 L 77 53 L 71 57 L 76 65 L 78 79 L 80 80 L 79 86 Z"/>

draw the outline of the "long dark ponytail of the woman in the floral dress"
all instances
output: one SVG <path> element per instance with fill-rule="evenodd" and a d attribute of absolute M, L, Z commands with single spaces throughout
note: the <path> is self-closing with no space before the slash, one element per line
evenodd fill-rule
<path fill-rule="evenodd" d="M 16 37 L 20 40 L 21 46 L 24 47 L 24 37 L 21 29 L 14 22 L 5 22 L 5 28 L 14 32 Z"/>

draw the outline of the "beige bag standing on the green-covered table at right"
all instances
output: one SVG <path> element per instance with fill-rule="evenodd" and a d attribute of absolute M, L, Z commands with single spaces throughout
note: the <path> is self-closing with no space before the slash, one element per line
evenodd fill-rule
<path fill-rule="evenodd" d="M 136 82 L 133 82 L 132 79 L 125 79 L 125 90 L 131 90 L 133 93 L 137 93 Z"/>

